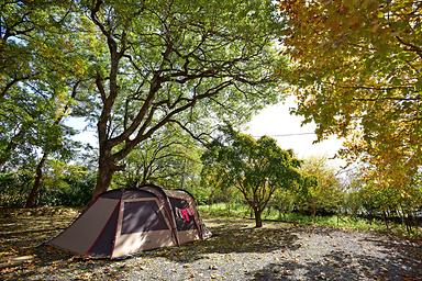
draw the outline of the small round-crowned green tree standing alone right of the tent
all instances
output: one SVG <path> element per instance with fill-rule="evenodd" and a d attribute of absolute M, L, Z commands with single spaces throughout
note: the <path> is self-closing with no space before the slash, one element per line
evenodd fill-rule
<path fill-rule="evenodd" d="M 244 196 L 255 215 L 256 227 L 262 227 L 262 213 L 278 189 L 289 188 L 300 179 L 300 161 L 292 150 L 284 150 L 277 142 L 263 136 L 255 140 L 231 128 L 223 139 L 215 140 L 203 155 L 204 171 L 219 170 L 215 180 L 233 186 Z"/>

